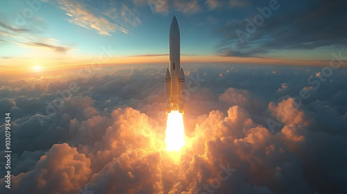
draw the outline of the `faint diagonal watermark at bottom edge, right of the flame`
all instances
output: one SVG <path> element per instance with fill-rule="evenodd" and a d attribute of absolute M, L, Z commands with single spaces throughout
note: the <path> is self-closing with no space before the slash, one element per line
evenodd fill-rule
<path fill-rule="evenodd" d="M 235 168 L 230 168 L 230 163 L 226 167 L 223 164 L 219 165 L 219 167 L 221 167 L 221 170 L 219 170 L 217 178 L 211 179 L 208 184 L 204 183 L 203 186 L 196 189 L 196 194 L 214 193 L 221 186 L 221 182 L 225 182 L 236 171 Z"/>

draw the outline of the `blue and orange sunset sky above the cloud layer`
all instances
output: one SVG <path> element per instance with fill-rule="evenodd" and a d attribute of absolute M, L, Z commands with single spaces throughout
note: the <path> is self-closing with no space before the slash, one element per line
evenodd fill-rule
<path fill-rule="evenodd" d="M 345 1 L 1 1 L 0 71 L 167 62 L 326 65 L 346 50 Z M 346 59 L 344 59 L 346 60 Z"/>

